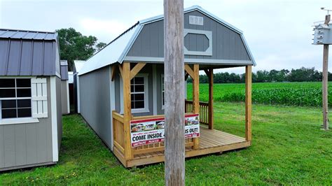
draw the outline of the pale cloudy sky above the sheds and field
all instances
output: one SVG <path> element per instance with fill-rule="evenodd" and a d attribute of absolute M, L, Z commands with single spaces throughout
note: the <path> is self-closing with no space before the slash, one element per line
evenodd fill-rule
<path fill-rule="evenodd" d="M 324 20 L 321 7 L 331 0 L 312 1 L 184 1 L 198 5 L 244 31 L 257 70 L 321 70 L 321 45 L 312 45 L 312 24 Z M 163 13 L 163 1 L 15 1 L 0 0 L 0 27 L 54 31 L 74 27 L 108 43 L 138 20 Z M 331 47 L 332 50 L 332 47 Z M 330 50 L 330 61 L 332 55 Z M 330 63 L 329 71 L 332 71 Z M 223 69 L 243 73 L 243 68 Z"/>

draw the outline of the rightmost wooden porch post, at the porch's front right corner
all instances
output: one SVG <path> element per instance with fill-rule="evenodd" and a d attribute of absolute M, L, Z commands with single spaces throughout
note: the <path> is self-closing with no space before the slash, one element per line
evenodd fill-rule
<path fill-rule="evenodd" d="M 251 141 L 251 66 L 246 66 L 246 141 Z"/>

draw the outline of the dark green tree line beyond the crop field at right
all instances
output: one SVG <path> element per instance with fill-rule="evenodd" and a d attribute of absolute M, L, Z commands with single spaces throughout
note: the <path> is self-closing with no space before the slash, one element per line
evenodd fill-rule
<path fill-rule="evenodd" d="M 303 81 L 321 81 L 322 73 L 312 68 L 302 67 L 300 69 L 282 69 L 277 71 L 275 69 L 270 71 L 257 71 L 252 73 L 253 83 L 265 82 L 303 82 Z M 332 80 L 332 73 L 328 72 L 328 79 Z M 214 73 L 214 83 L 244 83 L 245 73 Z M 191 78 L 188 82 L 192 83 Z M 207 75 L 200 75 L 200 83 L 209 83 Z"/>

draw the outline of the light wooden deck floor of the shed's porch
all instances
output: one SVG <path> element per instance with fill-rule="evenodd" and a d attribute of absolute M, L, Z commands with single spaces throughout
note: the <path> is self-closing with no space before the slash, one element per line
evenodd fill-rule
<path fill-rule="evenodd" d="M 198 150 L 186 148 L 186 157 L 195 157 L 200 155 L 213 154 L 216 152 L 246 148 L 250 145 L 250 142 L 245 141 L 245 139 L 242 137 L 228 134 L 223 131 L 209 130 L 206 127 L 200 127 L 200 148 Z M 117 156 L 118 153 L 115 154 Z M 164 151 L 149 152 L 140 155 L 134 155 L 134 159 L 127 160 L 127 164 L 125 166 L 132 167 L 164 161 Z"/>

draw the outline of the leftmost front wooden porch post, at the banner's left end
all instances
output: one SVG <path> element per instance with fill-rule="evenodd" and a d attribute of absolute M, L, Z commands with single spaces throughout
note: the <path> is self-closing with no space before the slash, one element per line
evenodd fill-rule
<path fill-rule="evenodd" d="M 132 159 L 132 146 L 130 145 L 130 120 L 132 120 L 132 105 L 130 97 L 130 63 L 124 62 L 122 66 L 123 78 L 123 129 L 125 131 L 125 159 Z"/>

